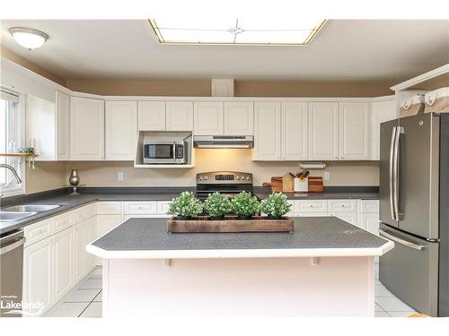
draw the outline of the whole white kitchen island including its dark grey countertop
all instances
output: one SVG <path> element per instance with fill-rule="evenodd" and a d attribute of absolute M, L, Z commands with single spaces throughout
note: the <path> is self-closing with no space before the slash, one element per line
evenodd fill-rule
<path fill-rule="evenodd" d="M 235 234 L 169 234 L 166 220 L 135 218 L 86 250 L 103 259 L 105 317 L 374 316 L 374 256 L 392 247 L 335 217 Z"/>

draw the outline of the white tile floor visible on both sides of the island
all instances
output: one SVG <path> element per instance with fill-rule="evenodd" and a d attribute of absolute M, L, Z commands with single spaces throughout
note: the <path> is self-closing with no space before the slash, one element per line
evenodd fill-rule
<path fill-rule="evenodd" d="M 378 264 L 375 275 L 375 317 L 406 317 L 416 313 L 379 281 Z M 84 280 L 52 307 L 45 316 L 101 317 L 101 266 L 96 267 Z"/>

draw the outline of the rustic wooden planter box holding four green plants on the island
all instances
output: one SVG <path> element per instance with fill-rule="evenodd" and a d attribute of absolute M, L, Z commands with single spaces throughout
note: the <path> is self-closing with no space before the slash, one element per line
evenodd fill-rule
<path fill-rule="evenodd" d="M 279 220 L 176 220 L 172 217 L 167 221 L 168 233 L 199 233 L 199 232 L 293 232 L 293 220 L 284 217 Z"/>

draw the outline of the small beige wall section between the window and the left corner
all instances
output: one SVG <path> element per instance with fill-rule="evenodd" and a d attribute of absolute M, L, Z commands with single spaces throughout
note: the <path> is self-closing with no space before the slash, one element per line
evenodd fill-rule
<path fill-rule="evenodd" d="M 26 194 L 57 189 L 66 185 L 66 162 L 35 162 L 35 169 L 25 168 Z"/>

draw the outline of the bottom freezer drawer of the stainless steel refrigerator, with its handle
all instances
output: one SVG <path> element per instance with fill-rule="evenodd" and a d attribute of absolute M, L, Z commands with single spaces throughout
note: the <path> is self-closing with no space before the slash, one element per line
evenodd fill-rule
<path fill-rule="evenodd" d="M 430 243 L 381 224 L 380 236 L 394 248 L 379 261 L 379 280 L 392 293 L 423 314 L 438 314 L 438 248 Z"/>

